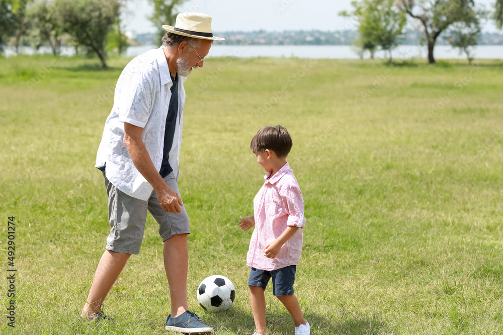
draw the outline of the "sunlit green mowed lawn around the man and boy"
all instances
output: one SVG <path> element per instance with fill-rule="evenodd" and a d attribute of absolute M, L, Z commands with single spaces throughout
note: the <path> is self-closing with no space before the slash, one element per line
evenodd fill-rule
<path fill-rule="evenodd" d="M 94 167 L 129 59 L 0 59 L 1 333 L 163 334 L 162 242 L 149 216 L 105 301 L 115 323 L 78 318 L 104 252 L 108 206 Z M 214 58 L 186 82 L 180 188 L 191 219 L 189 306 L 216 334 L 249 334 L 245 265 L 264 171 L 255 133 L 284 125 L 307 225 L 295 293 L 312 334 L 503 332 L 503 61 Z M 8 217 L 15 216 L 15 266 Z M 16 272 L 7 326 L 8 269 Z M 236 287 L 208 314 L 196 288 Z M 293 334 L 266 291 L 269 334 Z"/>

